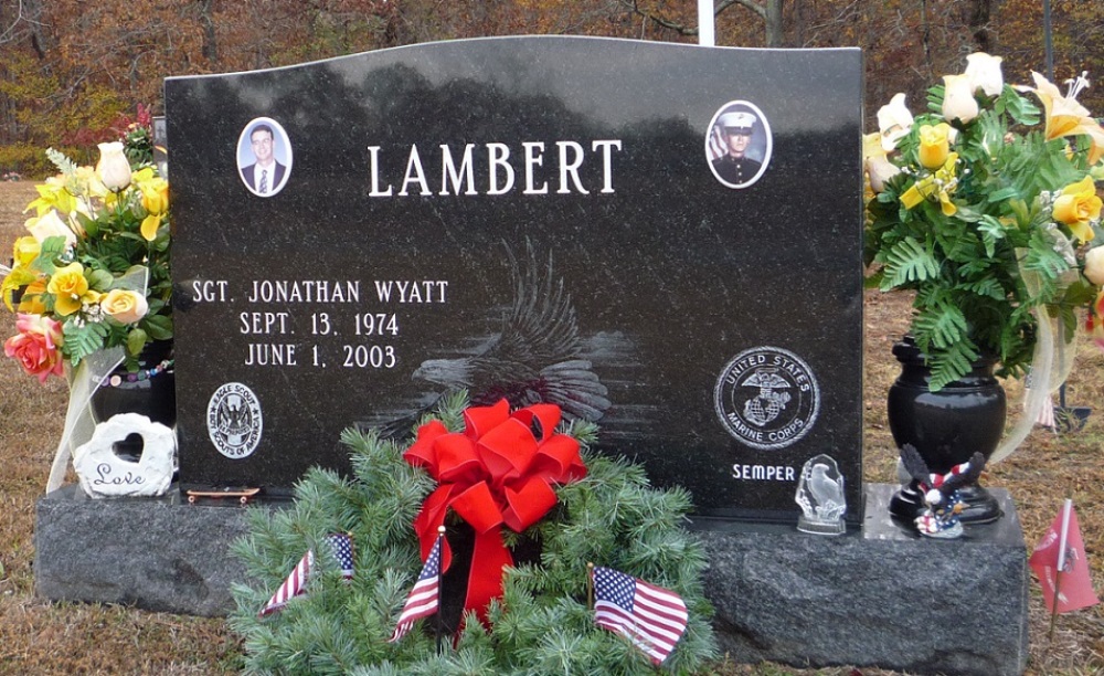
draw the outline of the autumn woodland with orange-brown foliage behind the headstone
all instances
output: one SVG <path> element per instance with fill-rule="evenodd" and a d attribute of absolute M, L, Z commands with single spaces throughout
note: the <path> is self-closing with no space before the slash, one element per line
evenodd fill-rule
<path fill-rule="evenodd" d="M 1005 80 L 1045 71 L 1042 0 L 715 0 L 716 44 L 860 46 L 867 112 L 1005 57 Z M 1053 76 L 1104 83 L 1104 7 L 1051 0 Z M 78 163 L 113 139 L 138 103 L 162 107 L 169 75 L 282 66 L 417 42 L 506 34 L 582 34 L 696 43 L 694 0 L 3 0 L 0 172 L 52 172 L 42 149 Z M 1104 86 L 1081 96 L 1104 110 Z"/>

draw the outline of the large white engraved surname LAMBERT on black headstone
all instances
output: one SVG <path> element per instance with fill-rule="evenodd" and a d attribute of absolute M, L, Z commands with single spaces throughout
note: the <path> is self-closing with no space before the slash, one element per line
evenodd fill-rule
<path fill-rule="evenodd" d="M 580 169 L 593 161 L 602 163 L 602 186 L 597 191 L 614 192 L 613 155 L 614 151 L 620 151 L 620 140 L 594 140 L 591 141 L 590 150 L 583 144 L 573 140 L 560 140 L 553 145 L 555 148 L 551 149 L 546 148 L 543 141 L 523 141 L 521 148 L 511 150 L 507 144 L 478 146 L 467 144 L 463 151 L 457 152 L 447 144 L 443 144 L 438 146 L 440 161 L 436 163 L 431 161 L 429 156 L 423 161 L 423 152 L 418 150 L 416 144 L 411 144 L 406 154 L 406 170 L 397 192 L 394 183 L 388 178 L 393 176 L 388 175 L 388 169 L 393 170 L 397 165 L 389 165 L 388 158 L 381 152 L 382 146 L 369 146 L 371 191 L 368 194 L 369 197 L 496 196 L 513 191 L 519 183 L 524 183 L 522 194 L 549 194 L 553 187 L 558 194 L 590 194 L 595 186 L 583 184 Z M 544 166 L 545 151 L 548 151 L 549 168 Z M 477 165 L 480 169 L 486 168 L 486 183 L 476 183 Z M 427 178 L 426 167 L 439 169 L 439 173 Z M 384 181 L 388 182 L 384 184 Z M 550 186 L 550 181 L 554 186 Z M 439 190 L 434 192 L 438 188 Z"/>

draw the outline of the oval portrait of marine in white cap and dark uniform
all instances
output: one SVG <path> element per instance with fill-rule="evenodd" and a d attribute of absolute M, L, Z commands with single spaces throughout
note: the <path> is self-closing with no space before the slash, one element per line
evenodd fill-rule
<path fill-rule="evenodd" d="M 755 104 L 724 104 L 709 124 L 705 158 L 716 180 L 729 188 L 747 188 L 771 162 L 771 125 Z"/>

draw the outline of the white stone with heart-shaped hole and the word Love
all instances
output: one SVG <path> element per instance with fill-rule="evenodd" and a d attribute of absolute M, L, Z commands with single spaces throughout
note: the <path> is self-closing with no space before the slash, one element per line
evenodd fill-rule
<path fill-rule="evenodd" d="M 115 454 L 131 434 L 142 439 L 137 463 Z M 73 452 L 81 487 L 94 498 L 164 495 L 172 483 L 177 437 L 172 430 L 138 413 L 120 413 L 96 425 L 92 439 Z"/>

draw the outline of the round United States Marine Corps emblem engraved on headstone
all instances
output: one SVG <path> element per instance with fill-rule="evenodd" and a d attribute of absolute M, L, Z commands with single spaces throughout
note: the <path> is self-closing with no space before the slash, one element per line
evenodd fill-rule
<path fill-rule="evenodd" d="M 820 412 L 820 387 L 797 355 L 757 347 L 740 352 L 724 367 L 713 403 L 729 434 L 769 451 L 809 433 Z"/>

